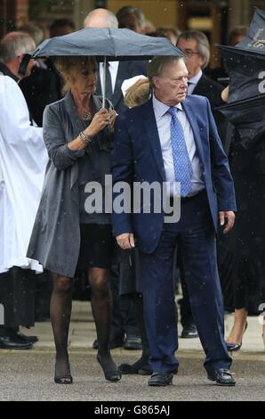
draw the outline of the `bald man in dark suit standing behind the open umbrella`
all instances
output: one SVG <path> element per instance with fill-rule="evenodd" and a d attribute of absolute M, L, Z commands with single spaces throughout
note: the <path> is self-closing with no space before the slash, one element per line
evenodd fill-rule
<path fill-rule="evenodd" d="M 118 28 L 116 15 L 106 9 L 94 9 L 84 20 L 84 28 Z M 124 105 L 124 94 L 121 86 L 125 79 L 146 75 L 146 62 L 108 62 L 106 74 L 106 97 L 113 104 L 118 114 L 127 110 Z M 102 94 L 103 66 L 99 65 L 98 85 L 96 94 Z M 113 316 L 111 323 L 111 341 L 112 348 L 124 346 L 124 349 L 141 349 L 140 332 L 133 315 L 132 301 L 119 298 L 119 273 L 117 261 L 114 261 L 111 275 L 110 286 L 113 297 Z M 93 347 L 97 347 L 94 342 Z"/>

